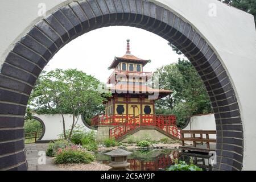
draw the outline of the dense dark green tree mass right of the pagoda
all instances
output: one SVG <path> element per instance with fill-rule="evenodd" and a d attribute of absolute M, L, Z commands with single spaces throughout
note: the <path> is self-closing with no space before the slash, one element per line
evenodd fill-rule
<path fill-rule="evenodd" d="M 170 96 L 156 101 L 156 114 L 175 114 L 182 126 L 193 114 L 212 111 L 209 96 L 196 69 L 187 60 L 157 69 L 159 88 L 173 90 Z"/>

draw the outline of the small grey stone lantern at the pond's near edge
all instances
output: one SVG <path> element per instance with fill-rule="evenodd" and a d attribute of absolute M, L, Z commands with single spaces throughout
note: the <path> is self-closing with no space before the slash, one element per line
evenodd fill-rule
<path fill-rule="evenodd" d="M 133 152 L 121 148 L 106 153 L 105 155 L 110 156 L 109 166 L 112 167 L 110 170 L 127 170 L 130 166 L 130 163 L 127 162 L 127 156 L 130 154 L 133 154 Z"/>

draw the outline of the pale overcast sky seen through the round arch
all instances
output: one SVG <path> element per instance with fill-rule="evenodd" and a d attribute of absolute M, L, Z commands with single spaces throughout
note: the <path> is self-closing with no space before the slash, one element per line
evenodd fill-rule
<path fill-rule="evenodd" d="M 131 54 L 151 60 L 144 67 L 146 72 L 154 72 L 156 68 L 174 63 L 179 57 L 183 57 L 172 51 L 167 40 L 151 32 L 133 27 L 106 27 L 72 40 L 56 53 L 45 70 L 76 68 L 106 82 L 113 72 L 108 67 L 114 57 L 126 53 L 126 39 L 130 39 Z"/>

